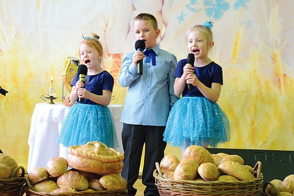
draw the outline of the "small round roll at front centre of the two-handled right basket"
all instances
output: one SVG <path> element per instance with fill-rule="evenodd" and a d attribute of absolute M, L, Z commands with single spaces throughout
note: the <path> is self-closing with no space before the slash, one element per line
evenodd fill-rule
<path fill-rule="evenodd" d="M 206 181 L 215 181 L 220 176 L 218 167 L 213 163 L 202 163 L 197 172 Z"/>

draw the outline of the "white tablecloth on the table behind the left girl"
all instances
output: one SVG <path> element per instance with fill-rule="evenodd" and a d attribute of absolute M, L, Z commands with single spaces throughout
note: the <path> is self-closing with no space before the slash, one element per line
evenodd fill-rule
<path fill-rule="evenodd" d="M 123 153 L 122 130 L 123 124 L 120 122 L 123 111 L 122 105 L 110 104 L 119 148 L 117 151 Z M 68 148 L 56 143 L 56 139 L 61 129 L 69 109 L 62 103 L 48 104 L 38 103 L 35 106 L 31 117 L 31 126 L 27 144 L 29 145 L 27 172 L 35 167 L 46 167 L 50 158 L 61 156 L 66 158 Z"/>

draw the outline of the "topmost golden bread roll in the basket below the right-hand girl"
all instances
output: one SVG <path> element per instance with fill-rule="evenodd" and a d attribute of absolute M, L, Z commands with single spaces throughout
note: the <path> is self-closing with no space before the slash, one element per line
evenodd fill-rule
<path fill-rule="evenodd" d="M 194 159 L 199 164 L 214 163 L 213 157 L 205 148 L 197 145 L 189 146 L 184 152 L 184 159 Z"/>

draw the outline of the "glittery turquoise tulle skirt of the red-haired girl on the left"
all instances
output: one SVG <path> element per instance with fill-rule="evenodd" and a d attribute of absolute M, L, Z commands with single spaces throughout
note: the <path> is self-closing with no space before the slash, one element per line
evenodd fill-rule
<path fill-rule="evenodd" d="M 111 112 L 107 106 L 76 103 L 64 119 L 56 142 L 69 147 L 91 141 L 119 147 Z"/>

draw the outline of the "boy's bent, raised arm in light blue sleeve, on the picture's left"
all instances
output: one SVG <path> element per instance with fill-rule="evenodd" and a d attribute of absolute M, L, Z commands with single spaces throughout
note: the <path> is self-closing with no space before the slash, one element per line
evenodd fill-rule
<path fill-rule="evenodd" d="M 119 75 L 119 84 L 122 87 L 128 87 L 136 80 L 139 75 L 137 74 L 138 68 L 133 64 L 132 57 L 124 56 L 122 68 Z"/>

